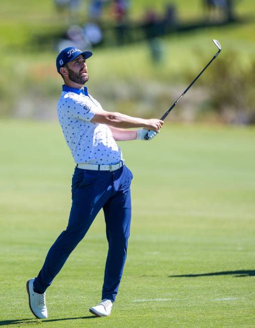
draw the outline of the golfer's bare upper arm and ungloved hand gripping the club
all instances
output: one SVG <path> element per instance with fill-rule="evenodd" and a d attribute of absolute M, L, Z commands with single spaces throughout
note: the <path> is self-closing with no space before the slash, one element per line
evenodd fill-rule
<path fill-rule="evenodd" d="M 147 130 L 159 131 L 164 122 L 158 119 L 144 120 L 140 118 L 134 118 L 128 115 L 124 115 L 116 112 L 100 111 L 95 113 L 90 122 L 96 122 L 101 124 L 107 124 L 114 128 L 145 128 Z"/>

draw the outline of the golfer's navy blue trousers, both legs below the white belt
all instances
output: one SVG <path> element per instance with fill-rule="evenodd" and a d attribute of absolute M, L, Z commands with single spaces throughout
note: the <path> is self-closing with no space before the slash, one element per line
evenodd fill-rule
<path fill-rule="evenodd" d="M 68 225 L 47 254 L 34 281 L 35 291 L 44 293 L 50 286 L 68 256 L 85 236 L 99 210 L 103 208 L 108 254 L 102 299 L 115 300 L 130 236 L 132 178 L 131 171 L 125 165 L 113 172 L 75 168 Z"/>

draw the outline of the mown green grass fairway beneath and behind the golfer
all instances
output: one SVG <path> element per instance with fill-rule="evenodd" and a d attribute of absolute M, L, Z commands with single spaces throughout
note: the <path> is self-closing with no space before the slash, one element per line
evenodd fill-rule
<path fill-rule="evenodd" d="M 0 325 L 10 327 L 254 327 L 255 130 L 165 126 L 122 142 L 134 173 L 129 252 L 112 314 L 101 295 L 103 215 L 47 290 L 48 320 L 26 281 L 65 229 L 74 164 L 57 123 L 0 121 Z"/>

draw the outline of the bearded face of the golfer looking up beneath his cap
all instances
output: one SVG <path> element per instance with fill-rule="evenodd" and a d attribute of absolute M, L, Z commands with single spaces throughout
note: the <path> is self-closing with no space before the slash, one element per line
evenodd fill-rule
<path fill-rule="evenodd" d="M 82 55 L 70 61 L 66 65 L 66 68 L 68 70 L 68 77 L 71 81 L 78 84 L 84 84 L 88 81 L 87 65 Z"/>

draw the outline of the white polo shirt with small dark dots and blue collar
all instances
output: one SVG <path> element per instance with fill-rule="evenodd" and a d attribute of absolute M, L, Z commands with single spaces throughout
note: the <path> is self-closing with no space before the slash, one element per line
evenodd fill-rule
<path fill-rule="evenodd" d="M 91 123 L 102 107 L 87 92 L 63 85 L 57 105 L 58 119 L 75 163 L 115 164 L 122 160 L 120 148 L 107 125 Z"/>

